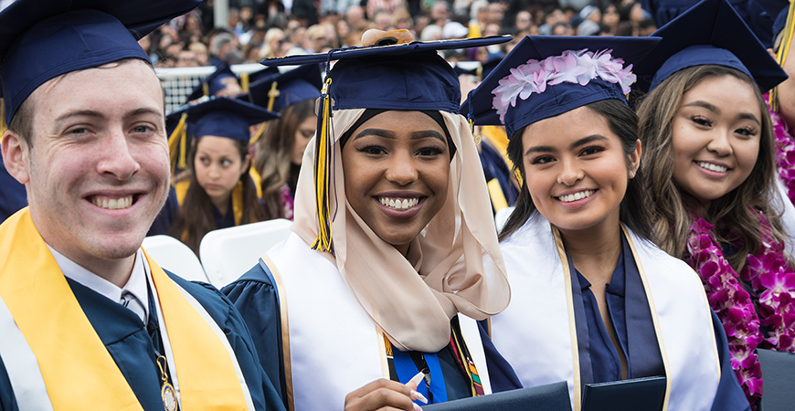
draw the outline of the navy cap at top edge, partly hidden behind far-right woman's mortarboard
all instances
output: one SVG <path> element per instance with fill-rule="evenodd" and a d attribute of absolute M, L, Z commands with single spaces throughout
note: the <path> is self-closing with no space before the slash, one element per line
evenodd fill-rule
<path fill-rule="evenodd" d="M 770 27 L 773 25 L 773 19 L 776 18 L 780 7 L 783 6 L 777 3 L 782 1 L 785 0 L 729 0 L 728 3 L 734 7 L 737 15 L 745 21 L 759 41 L 765 47 L 770 47 L 772 44 Z M 643 9 L 652 15 L 654 25 L 658 27 L 667 25 L 697 3 L 697 0 L 641 0 Z M 771 9 L 775 9 L 775 11 L 771 11 Z"/>

